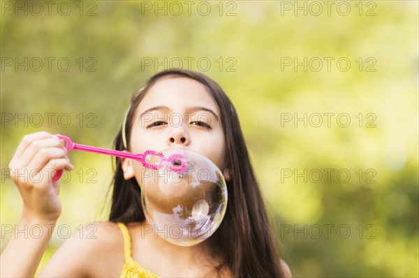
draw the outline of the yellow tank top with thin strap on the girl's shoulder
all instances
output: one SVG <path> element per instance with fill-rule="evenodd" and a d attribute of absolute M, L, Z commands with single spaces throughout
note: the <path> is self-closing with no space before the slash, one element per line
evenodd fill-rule
<path fill-rule="evenodd" d="M 159 276 L 145 269 L 144 266 L 133 260 L 133 257 L 131 256 L 131 237 L 129 235 L 128 228 L 126 228 L 123 223 L 117 224 L 119 229 L 122 231 L 122 236 L 124 237 L 125 256 L 125 264 L 122 267 L 121 275 L 119 275 L 119 277 L 159 278 Z"/>

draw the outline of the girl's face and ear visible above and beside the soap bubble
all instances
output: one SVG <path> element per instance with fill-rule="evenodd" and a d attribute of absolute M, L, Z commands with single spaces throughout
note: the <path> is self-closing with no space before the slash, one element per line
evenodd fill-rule
<path fill-rule="evenodd" d="M 205 155 L 222 171 L 226 142 L 219 115 L 219 107 L 203 84 L 187 77 L 163 77 L 135 110 L 130 151 L 187 148 Z M 124 178 L 140 180 L 140 165 L 123 160 Z"/>

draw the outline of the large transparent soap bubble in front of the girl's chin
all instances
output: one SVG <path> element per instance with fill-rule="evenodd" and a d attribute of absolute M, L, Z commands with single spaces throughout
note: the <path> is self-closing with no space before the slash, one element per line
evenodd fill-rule
<path fill-rule="evenodd" d="M 207 157 L 184 148 L 145 153 L 141 201 L 154 232 L 191 246 L 218 229 L 227 206 L 223 174 Z"/>

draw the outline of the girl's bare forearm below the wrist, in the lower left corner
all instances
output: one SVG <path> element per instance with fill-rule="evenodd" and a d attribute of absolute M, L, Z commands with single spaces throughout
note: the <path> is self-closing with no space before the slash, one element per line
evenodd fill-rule
<path fill-rule="evenodd" d="M 22 217 L 0 256 L 0 277 L 34 277 L 50 241 L 55 222 Z"/>

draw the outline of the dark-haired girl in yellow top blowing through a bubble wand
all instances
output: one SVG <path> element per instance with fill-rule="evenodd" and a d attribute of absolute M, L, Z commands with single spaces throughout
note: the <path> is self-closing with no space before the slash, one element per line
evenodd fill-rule
<path fill-rule="evenodd" d="M 182 115 L 181 124 L 170 123 L 173 114 Z M 149 79 L 133 94 L 115 139 L 115 149 L 132 153 L 175 146 L 210 158 L 226 178 L 226 215 L 210 238 L 179 247 L 154 233 L 140 202 L 140 162 L 116 158 L 109 222 L 94 223 L 96 239 L 72 235 L 39 276 L 290 277 L 279 258 L 236 111 L 222 88 L 198 72 L 165 70 Z M 44 233 L 41 238 L 16 233 L 1 254 L 1 276 L 33 277 L 61 213 L 60 185 L 51 182 L 52 176 L 73 165 L 57 137 L 38 132 L 22 139 L 9 167 L 24 203 L 16 230 L 36 224 Z M 18 174 L 33 169 L 41 169 L 43 177 L 33 178 L 36 183 Z"/>

